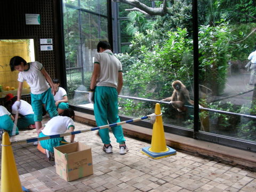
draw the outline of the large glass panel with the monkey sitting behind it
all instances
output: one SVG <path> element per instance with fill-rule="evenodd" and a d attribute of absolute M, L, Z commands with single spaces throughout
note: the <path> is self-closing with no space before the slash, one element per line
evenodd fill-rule
<path fill-rule="evenodd" d="M 194 107 L 191 105 L 194 100 L 194 66 L 191 4 L 181 1 L 174 1 L 174 4 L 172 15 L 155 17 L 154 20 L 148 20 L 145 15 L 134 14 L 134 17 L 138 17 L 135 20 L 135 27 L 140 33 L 133 33 L 132 41 L 123 35 L 126 34 L 124 29 L 130 21 L 119 20 L 121 42 L 131 42 L 128 54 L 117 55 L 123 65 L 124 87 L 121 95 L 157 101 L 166 99 L 166 103 L 161 104 L 164 123 L 193 129 Z M 119 5 L 121 6 L 121 3 Z M 127 47 L 127 44 L 122 45 Z M 172 86 L 176 80 L 182 83 L 178 83 L 179 88 L 176 84 Z M 181 87 L 182 94 L 190 99 L 177 102 L 177 94 L 172 97 L 173 87 Z M 119 103 L 119 113 L 123 115 L 139 117 L 154 113 L 154 102 L 121 99 Z"/>

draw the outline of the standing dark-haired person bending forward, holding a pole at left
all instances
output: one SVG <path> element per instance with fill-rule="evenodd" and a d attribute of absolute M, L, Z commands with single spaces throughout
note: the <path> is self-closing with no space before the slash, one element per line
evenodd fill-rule
<path fill-rule="evenodd" d="M 52 79 L 44 69 L 42 63 L 38 61 L 27 63 L 27 61 L 19 56 L 15 56 L 10 60 L 10 68 L 11 71 L 20 71 L 18 76 L 19 87 L 17 101 L 15 102 L 18 108 L 20 107 L 23 82 L 26 81 L 30 86 L 31 106 L 34 111 L 36 131 L 39 134 L 38 130 L 42 127 L 42 105 L 45 105 L 46 111 L 51 118 L 58 115 L 53 98 L 56 90 Z M 34 145 L 37 145 L 37 142 Z"/>

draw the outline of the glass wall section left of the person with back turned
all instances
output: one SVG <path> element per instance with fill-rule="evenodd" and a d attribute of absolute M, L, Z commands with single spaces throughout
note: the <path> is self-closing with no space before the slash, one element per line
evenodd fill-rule
<path fill-rule="evenodd" d="M 107 1 L 63 1 L 67 93 L 69 103 L 84 106 L 99 41 L 108 41 Z"/>

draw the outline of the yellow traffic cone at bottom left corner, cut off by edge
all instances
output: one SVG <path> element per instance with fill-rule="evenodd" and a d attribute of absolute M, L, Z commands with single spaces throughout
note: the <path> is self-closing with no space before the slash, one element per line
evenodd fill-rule
<path fill-rule="evenodd" d="M 25 189 L 25 188 L 23 188 Z M 1 191 L 23 192 L 15 164 L 9 134 L 4 132 L 2 139 Z"/>

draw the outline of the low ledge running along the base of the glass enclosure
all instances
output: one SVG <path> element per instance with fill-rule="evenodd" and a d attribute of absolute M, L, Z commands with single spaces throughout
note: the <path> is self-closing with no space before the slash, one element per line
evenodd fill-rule
<path fill-rule="evenodd" d="M 75 114 L 76 121 L 96 126 L 94 115 L 84 114 L 78 111 L 76 111 Z M 124 124 L 122 127 L 125 135 L 151 142 L 151 129 L 132 124 Z M 190 151 L 192 153 L 213 157 L 232 165 L 242 165 L 256 170 L 256 153 L 250 151 L 221 146 L 215 143 L 171 133 L 165 133 L 165 140 L 166 145 L 174 149 Z"/>

